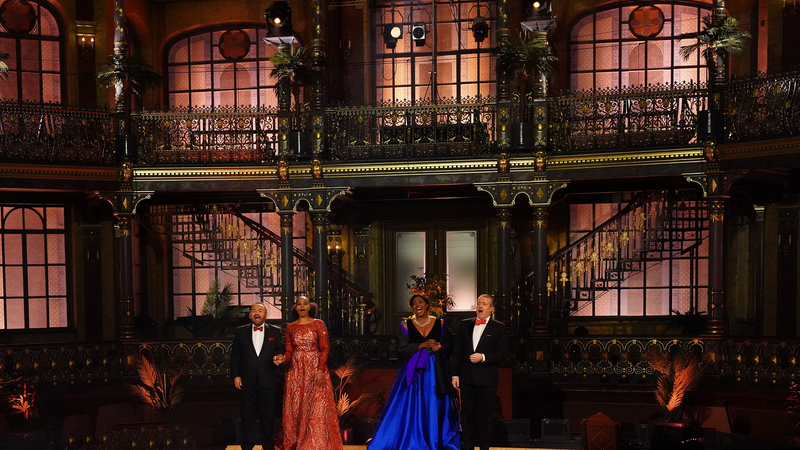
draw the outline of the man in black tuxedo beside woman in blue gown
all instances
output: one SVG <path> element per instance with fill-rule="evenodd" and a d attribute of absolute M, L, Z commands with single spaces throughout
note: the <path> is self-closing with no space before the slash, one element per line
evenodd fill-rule
<path fill-rule="evenodd" d="M 489 449 L 491 418 L 497 395 L 497 366 L 508 357 L 506 326 L 492 320 L 494 299 L 483 294 L 475 306 L 478 317 L 458 326 L 450 369 L 453 387 L 461 390 L 461 448 Z"/>

